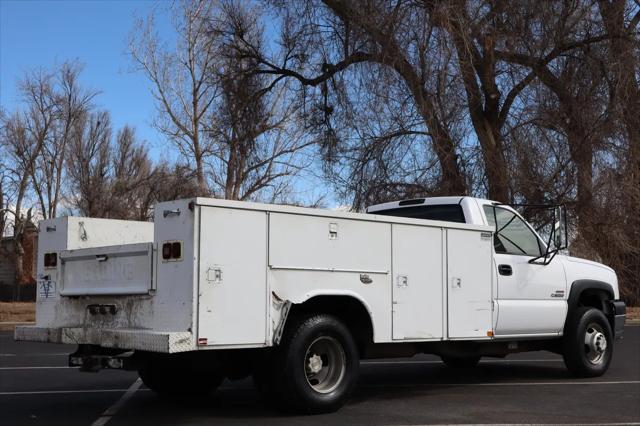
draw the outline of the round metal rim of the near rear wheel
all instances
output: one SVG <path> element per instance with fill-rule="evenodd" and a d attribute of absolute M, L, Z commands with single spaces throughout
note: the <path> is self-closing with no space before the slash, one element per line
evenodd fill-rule
<path fill-rule="evenodd" d="M 318 393 L 333 392 L 342 382 L 347 357 L 340 342 L 330 336 L 315 339 L 304 357 L 307 383 Z"/>

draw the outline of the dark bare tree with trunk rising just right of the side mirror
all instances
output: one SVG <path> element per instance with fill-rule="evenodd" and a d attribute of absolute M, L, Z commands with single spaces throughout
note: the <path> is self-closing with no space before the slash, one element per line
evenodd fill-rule
<path fill-rule="evenodd" d="M 528 22 L 523 39 L 511 51 L 496 50 L 500 59 L 525 67 L 551 91 L 557 102 L 553 122 L 546 123 L 566 137 L 571 158 L 576 166 L 576 213 L 579 233 L 589 235 L 593 210 L 593 162 L 597 144 L 606 133 L 606 82 L 602 58 L 591 54 L 593 45 L 606 40 L 594 24 L 589 4 L 563 4 L 545 9 L 546 13 Z M 541 31 L 542 29 L 542 31 Z M 554 43 L 545 43 L 553 34 Z M 581 34 L 596 34 L 581 37 Z M 540 40 L 532 49 L 529 40 Z"/>

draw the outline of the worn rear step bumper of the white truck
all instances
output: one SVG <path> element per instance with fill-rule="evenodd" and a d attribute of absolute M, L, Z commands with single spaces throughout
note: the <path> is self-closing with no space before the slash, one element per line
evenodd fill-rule
<path fill-rule="evenodd" d="M 97 345 L 105 348 L 162 353 L 186 352 L 196 349 L 195 338 L 189 332 L 20 326 L 16 327 L 14 337 L 15 340 L 31 342 Z"/>

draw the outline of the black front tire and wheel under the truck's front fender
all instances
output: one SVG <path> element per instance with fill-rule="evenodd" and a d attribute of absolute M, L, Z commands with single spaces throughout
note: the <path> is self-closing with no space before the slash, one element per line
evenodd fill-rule
<path fill-rule="evenodd" d="M 562 339 L 567 369 L 578 377 L 597 377 L 609 368 L 613 333 L 602 311 L 580 307 L 567 318 Z"/>

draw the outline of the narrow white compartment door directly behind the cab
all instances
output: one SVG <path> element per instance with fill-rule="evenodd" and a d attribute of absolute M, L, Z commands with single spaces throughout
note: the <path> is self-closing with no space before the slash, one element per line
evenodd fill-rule
<path fill-rule="evenodd" d="M 449 338 L 487 338 L 492 331 L 492 234 L 447 230 Z"/>

